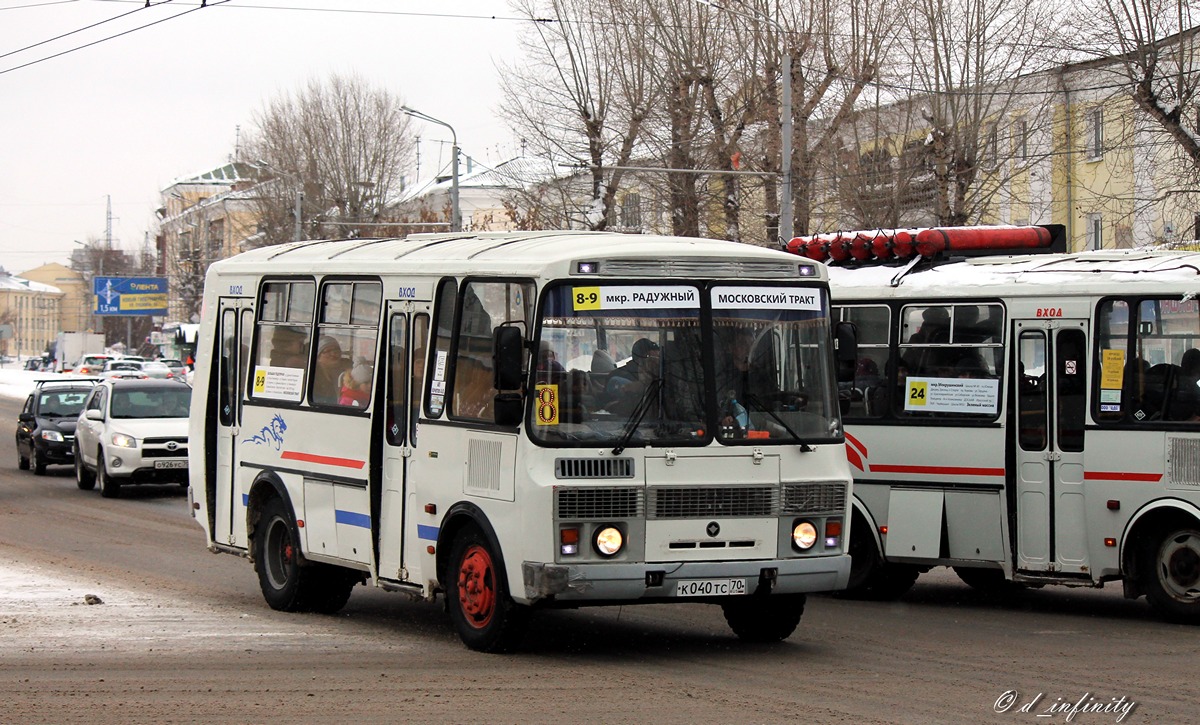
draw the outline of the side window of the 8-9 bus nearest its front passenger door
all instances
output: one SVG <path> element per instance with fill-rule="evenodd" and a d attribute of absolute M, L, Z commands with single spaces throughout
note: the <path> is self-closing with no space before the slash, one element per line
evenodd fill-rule
<path fill-rule="evenodd" d="M 313 403 L 368 407 L 382 295 L 379 282 L 340 281 L 322 287 Z"/>

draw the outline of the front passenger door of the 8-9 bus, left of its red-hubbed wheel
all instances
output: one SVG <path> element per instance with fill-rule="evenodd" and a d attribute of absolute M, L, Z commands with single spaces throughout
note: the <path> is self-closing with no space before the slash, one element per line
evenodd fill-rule
<path fill-rule="evenodd" d="M 416 443 L 425 341 L 430 316 L 412 313 L 410 302 L 391 302 L 388 314 L 386 382 L 377 409 L 384 411 L 383 490 L 379 502 L 379 577 L 408 581 L 404 571 L 404 498 L 408 466 Z"/>

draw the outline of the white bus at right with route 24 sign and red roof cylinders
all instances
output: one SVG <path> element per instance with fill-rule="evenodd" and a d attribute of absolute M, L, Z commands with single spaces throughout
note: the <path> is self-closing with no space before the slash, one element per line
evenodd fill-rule
<path fill-rule="evenodd" d="M 830 269 L 858 326 L 851 593 L 942 565 L 992 591 L 1121 580 L 1200 622 L 1200 253 L 937 253 L 1061 229 L 793 240 L 862 260 Z"/>

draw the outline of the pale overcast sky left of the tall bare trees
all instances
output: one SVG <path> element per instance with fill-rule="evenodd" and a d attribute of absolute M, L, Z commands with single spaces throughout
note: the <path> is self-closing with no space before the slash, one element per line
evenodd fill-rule
<path fill-rule="evenodd" d="M 484 163 L 520 150 L 496 115 L 496 66 L 523 30 L 504 0 L 199 1 L 0 0 L 6 270 L 66 263 L 73 240 L 103 239 L 108 196 L 114 242 L 139 247 L 163 187 L 227 163 L 269 98 L 331 73 L 446 121 Z M 449 160 L 437 142 L 450 134 L 415 127 L 425 176 Z"/>

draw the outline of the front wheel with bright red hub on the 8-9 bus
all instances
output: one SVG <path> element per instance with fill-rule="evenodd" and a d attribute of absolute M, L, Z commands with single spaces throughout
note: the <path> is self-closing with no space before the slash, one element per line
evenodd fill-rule
<path fill-rule="evenodd" d="M 514 651 L 524 636 L 528 607 L 512 601 L 502 561 L 487 537 L 468 526 L 450 549 L 446 603 L 458 636 L 476 652 Z"/>

